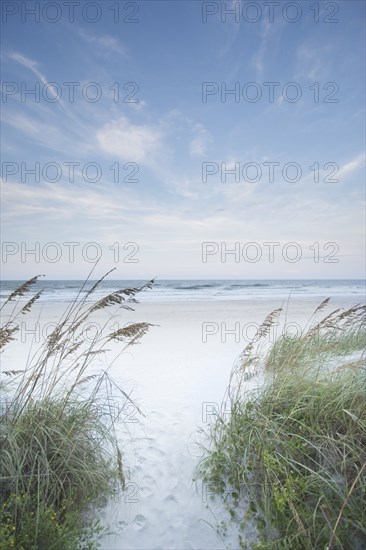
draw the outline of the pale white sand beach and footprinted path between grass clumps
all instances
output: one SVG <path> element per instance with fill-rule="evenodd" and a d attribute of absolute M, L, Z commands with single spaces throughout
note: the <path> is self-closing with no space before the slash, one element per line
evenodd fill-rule
<path fill-rule="evenodd" d="M 303 325 L 318 304 L 318 299 L 292 300 L 287 320 Z M 337 298 L 326 311 L 351 305 L 349 298 Z M 128 485 L 103 514 L 112 531 L 100 541 L 103 550 L 239 547 L 235 526 L 229 526 L 226 537 L 217 535 L 213 513 L 206 508 L 205 488 L 191 481 L 201 454 L 194 444 L 195 432 L 207 426 L 210 416 L 203 413 L 220 407 L 232 364 L 247 343 L 243 337 L 235 341 L 235 335 L 222 341 L 221 323 L 227 329 L 240 323 L 245 334 L 248 323 L 260 323 L 280 306 L 278 300 L 142 302 L 136 311 L 122 312 L 121 324 L 146 321 L 160 326 L 152 327 L 142 343 L 120 357 L 111 370 L 125 391 L 133 390 L 132 397 L 146 418 L 130 409 L 120 428 Z M 61 305 L 44 306 L 41 325 L 57 319 L 61 311 Z M 35 313 L 36 309 L 33 320 Z M 206 343 L 202 323 L 218 327 Z M 253 331 L 254 325 L 248 336 Z M 22 352 L 20 345 L 11 345 L 2 368 L 19 365 L 25 347 Z M 220 502 L 212 508 L 219 522 L 228 520 Z"/>

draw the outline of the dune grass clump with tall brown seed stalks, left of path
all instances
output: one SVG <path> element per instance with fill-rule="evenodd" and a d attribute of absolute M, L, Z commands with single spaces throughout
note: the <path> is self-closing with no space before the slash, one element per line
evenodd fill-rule
<path fill-rule="evenodd" d="M 36 293 L 24 301 L 37 279 L 18 287 L 3 304 L 6 320 L 0 330 L 0 348 L 16 338 L 20 319 L 39 299 L 41 293 Z M 95 548 L 101 526 L 93 510 L 116 486 L 124 488 L 115 428 L 123 406 L 132 401 L 108 369 L 126 348 L 139 342 L 150 325 L 131 323 L 108 332 L 106 322 L 92 340 L 85 338 L 84 329 L 101 309 L 113 308 L 115 315 L 116 308 L 132 310 L 135 296 L 150 288 L 152 281 L 93 301 L 103 279 L 89 290 L 84 283 L 23 368 L 6 370 L 2 361 L 1 549 Z M 119 344 L 113 360 L 107 349 L 111 344 Z M 97 369 L 101 356 L 107 367 Z"/>

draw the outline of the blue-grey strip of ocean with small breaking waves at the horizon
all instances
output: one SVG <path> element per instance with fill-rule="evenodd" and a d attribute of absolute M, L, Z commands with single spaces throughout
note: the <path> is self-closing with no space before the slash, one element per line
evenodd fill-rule
<path fill-rule="evenodd" d="M 88 281 L 83 287 L 80 280 L 50 281 L 40 279 L 33 291 L 42 290 L 40 302 L 70 302 L 81 290 L 85 294 L 95 281 Z M 90 297 L 97 300 L 120 288 L 141 286 L 147 281 L 141 280 L 104 280 Z M 9 293 L 21 284 L 21 281 L 2 281 L 0 300 L 3 302 Z M 347 280 L 160 280 L 152 289 L 137 296 L 146 302 L 175 301 L 216 301 L 216 300 L 266 300 L 270 298 L 307 298 L 307 297 L 350 297 L 355 302 L 366 298 L 365 281 Z M 29 295 L 23 300 L 29 299 Z"/>

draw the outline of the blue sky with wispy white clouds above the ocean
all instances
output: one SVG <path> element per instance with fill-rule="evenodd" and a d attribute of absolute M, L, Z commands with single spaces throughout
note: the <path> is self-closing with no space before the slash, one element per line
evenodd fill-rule
<path fill-rule="evenodd" d="M 3 1 L 1 278 L 363 278 L 364 21 Z"/>

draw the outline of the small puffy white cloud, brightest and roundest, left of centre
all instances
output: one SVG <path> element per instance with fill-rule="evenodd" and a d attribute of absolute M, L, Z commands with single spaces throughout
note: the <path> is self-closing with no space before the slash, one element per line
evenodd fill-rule
<path fill-rule="evenodd" d="M 160 148 L 161 139 L 157 128 L 132 124 L 126 117 L 106 124 L 97 132 L 97 141 L 104 153 L 131 162 L 145 162 Z"/>

